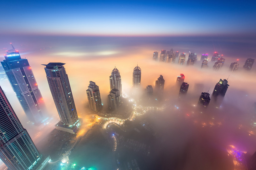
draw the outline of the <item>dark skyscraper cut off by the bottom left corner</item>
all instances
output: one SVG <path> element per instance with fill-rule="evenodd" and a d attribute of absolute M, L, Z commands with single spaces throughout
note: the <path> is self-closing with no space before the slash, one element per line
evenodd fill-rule
<path fill-rule="evenodd" d="M 0 158 L 8 169 L 36 169 L 42 155 L 21 125 L 1 86 L 0 101 Z"/>

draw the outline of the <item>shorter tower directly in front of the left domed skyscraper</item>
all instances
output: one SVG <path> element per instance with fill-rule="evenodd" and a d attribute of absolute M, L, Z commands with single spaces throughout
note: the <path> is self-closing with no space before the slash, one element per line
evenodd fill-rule
<path fill-rule="evenodd" d="M 112 89 L 108 95 L 109 108 L 116 109 L 121 105 L 120 91 L 117 89 Z"/>

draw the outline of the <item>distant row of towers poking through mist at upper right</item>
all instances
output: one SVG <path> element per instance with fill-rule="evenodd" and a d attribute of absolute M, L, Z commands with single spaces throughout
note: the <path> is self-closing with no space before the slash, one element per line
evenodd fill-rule
<path fill-rule="evenodd" d="M 154 51 L 153 53 L 153 60 L 158 60 L 158 52 Z M 166 51 L 166 50 L 161 50 L 160 52 L 160 62 L 166 62 L 166 63 L 175 63 L 175 61 L 178 60 L 179 65 L 184 65 L 185 61 L 186 61 L 186 54 L 181 53 L 179 55 L 179 51 L 173 52 L 173 49 L 171 49 L 170 51 Z M 207 68 L 208 67 L 208 54 L 202 54 L 200 61 L 202 61 L 201 64 L 201 68 Z M 189 53 L 188 55 L 188 59 L 187 59 L 187 65 L 194 65 L 195 62 L 197 61 L 197 54 L 195 53 Z M 224 63 L 225 63 L 225 59 L 223 58 L 223 55 L 219 55 L 217 52 L 214 52 L 214 54 L 212 55 L 211 58 L 211 62 L 213 62 L 213 69 L 214 70 L 219 70 L 220 68 L 223 67 Z M 244 65 L 243 68 L 245 70 L 250 70 L 253 66 L 254 63 L 254 59 L 250 59 L 248 58 Z M 229 70 L 234 72 L 238 70 L 238 60 L 236 62 L 233 62 L 230 64 L 229 66 Z"/>

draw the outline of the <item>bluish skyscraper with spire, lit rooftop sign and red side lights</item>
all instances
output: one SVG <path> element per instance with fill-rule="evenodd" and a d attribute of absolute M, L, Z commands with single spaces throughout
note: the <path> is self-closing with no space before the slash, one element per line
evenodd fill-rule
<path fill-rule="evenodd" d="M 28 120 L 41 123 L 45 116 L 45 104 L 28 60 L 22 59 L 14 47 L 7 51 L 4 58 L 1 64 Z"/>

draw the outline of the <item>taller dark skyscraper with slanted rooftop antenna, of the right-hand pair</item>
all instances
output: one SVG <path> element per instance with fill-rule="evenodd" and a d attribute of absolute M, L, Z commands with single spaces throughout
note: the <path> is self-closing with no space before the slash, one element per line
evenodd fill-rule
<path fill-rule="evenodd" d="M 213 92 L 212 98 L 214 102 L 217 103 L 217 106 L 221 104 L 227 90 L 228 90 L 228 81 L 226 79 L 220 79 L 218 83 L 216 83 Z"/>

